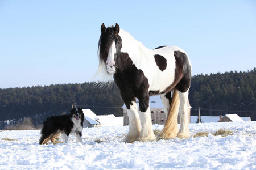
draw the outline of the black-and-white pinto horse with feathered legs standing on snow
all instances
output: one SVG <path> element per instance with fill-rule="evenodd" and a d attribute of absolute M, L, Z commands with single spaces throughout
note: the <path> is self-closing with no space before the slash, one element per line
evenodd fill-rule
<path fill-rule="evenodd" d="M 107 28 L 103 23 L 98 59 L 96 76 L 100 76 L 101 82 L 114 80 L 127 107 L 130 124 L 125 142 L 156 139 L 149 105 L 149 98 L 154 95 L 160 95 L 167 118 L 159 138 L 190 137 L 187 102 L 192 68 L 183 49 L 177 46 L 148 49 L 117 23 Z"/>

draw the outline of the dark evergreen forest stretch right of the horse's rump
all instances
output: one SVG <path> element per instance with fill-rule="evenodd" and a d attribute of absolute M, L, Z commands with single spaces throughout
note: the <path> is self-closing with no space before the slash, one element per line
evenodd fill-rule
<path fill-rule="evenodd" d="M 230 71 L 196 75 L 189 90 L 191 114 L 224 116 L 238 114 L 256 120 L 256 68 L 247 72 Z"/>

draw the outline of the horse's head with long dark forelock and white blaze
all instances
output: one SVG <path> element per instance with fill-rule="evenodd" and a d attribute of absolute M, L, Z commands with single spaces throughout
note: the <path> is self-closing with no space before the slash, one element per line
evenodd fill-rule
<path fill-rule="evenodd" d="M 119 25 L 106 28 L 104 23 L 101 25 L 101 36 L 98 42 L 98 52 L 100 62 L 106 65 L 108 73 L 115 72 L 115 59 L 122 48 L 122 39 L 118 35 L 120 31 Z"/>

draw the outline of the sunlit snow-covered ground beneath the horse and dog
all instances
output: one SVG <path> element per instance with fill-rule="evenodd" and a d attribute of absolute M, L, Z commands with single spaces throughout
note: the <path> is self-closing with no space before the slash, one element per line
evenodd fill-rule
<path fill-rule="evenodd" d="M 191 135 L 219 129 L 233 135 L 131 144 L 123 142 L 128 126 L 115 126 L 84 128 L 81 143 L 72 135 L 67 143 L 39 145 L 40 130 L 1 131 L 0 169 L 256 169 L 256 122 L 189 124 L 189 129 Z"/>

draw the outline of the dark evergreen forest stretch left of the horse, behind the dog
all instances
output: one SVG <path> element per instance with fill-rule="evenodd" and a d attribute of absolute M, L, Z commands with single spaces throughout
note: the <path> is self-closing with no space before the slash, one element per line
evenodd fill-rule
<path fill-rule="evenodd" d="M 123 101 L 114 83 L 108 88 L 98 88 L 95 82 L 6 88 L 0 89 L 0 129 L 26 117 L 40 125 L 47 117 L 69 114 L 73 104 L 98 115 L 123 115 Z"/>

